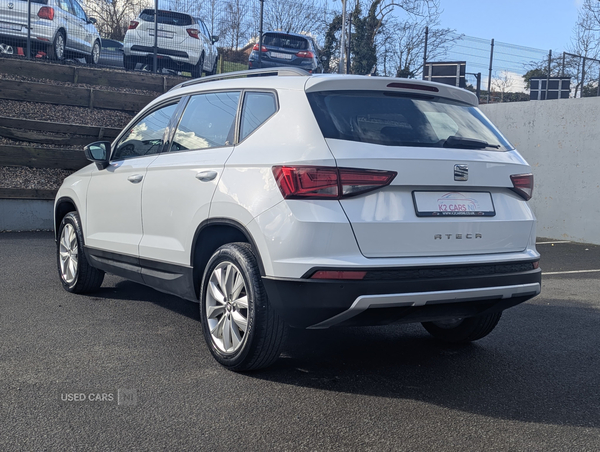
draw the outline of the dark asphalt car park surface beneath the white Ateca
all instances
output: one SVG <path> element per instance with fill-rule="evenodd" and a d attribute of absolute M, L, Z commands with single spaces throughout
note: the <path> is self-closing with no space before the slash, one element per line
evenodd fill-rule
<path fill-rule="evenodd" d="M 538 248 L 542 294 L 477 343 L 296 332 L 236 374 L 198 305 L 113 276 L 69 294 L 51 234 L 0 234 L 0 450 L 598 451 L 600 247 Z"/>

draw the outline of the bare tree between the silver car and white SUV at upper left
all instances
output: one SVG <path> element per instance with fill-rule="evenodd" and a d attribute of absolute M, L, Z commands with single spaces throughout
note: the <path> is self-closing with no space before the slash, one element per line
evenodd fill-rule
<path fill-rule="evenodd" d="M 84 0 L 88 16 L 96 18 L 96 28 L 104 38 L 122 41 L 129 26 L 144 8 L 152 8 L 151 0 Z"/>

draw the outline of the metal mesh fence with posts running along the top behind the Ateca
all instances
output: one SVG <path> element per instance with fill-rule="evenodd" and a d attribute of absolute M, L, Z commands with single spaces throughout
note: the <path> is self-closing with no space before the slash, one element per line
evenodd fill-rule
<path fill-rule="evenodd" d="M 340 12 L 332 9 L 339 5 L 324 0 L 158 0 L 157 4 L 155 17 L 154 0 L 0 0 L 0 53 L 74 58 L 197 77 L 249 67 L 259 36 L 261 6 L 264 31 L 301 32 L 317 47 L 325 44 L 329 27 L 339 20 L 336 15 Z M 425 38 L 417 29 L 410 31 L 410 25 L 405 26 L 403 34 L 388 34 L 387 41 L 376 41 L 378 74 L 421 77 L 423 67 L 417 55 L 424 52 Z M 347 28 L 352 30 L 350 24 Z M 331 66 L 323 68 L 326 72 L 336 70 L 340 60 L 341 32 L 337 33 L 337 44 L 328 57 Z M 390 44 L 394 39 L 397 42 Z M 96 42 L 99 49 L 94 48 Z M 528 100 L 526 75 L 568 78 L 570 97 L 598 95 L 598 60 L 562 53 L 549 60 L 548 50 L 459 34 L 448 35 L 445 43 L 429 45 L 433 61 L 466 61 L 467 87 L 475 90 L 479 82 L 483 102 Z M 402 62 L 408 50 L 413 59 Z M 390 67 L 392 61 L 397 67 Z M 316 56 L 315 64 L 319 63 Z"/>

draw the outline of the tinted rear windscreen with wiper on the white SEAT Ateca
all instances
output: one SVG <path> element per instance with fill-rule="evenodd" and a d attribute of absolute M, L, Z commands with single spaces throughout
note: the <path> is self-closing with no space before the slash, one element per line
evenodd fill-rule
<path fill-rule="evenodd" d="M 474 148 L 466 139 L 485 142 L 492 150 L 513 149 L 478 108 L 467 104 L 389 91 L 321 91 L 307 96 L 325 138 Z"/>

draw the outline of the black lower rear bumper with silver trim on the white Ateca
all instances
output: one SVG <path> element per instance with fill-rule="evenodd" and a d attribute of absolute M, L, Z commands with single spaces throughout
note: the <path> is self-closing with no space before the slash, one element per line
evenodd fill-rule
<path fill-rule="evenodd" d="M 264 277 L 263 283 L 271 305 L 288 324 L 329 328 L 502 311 L 540 293 L 541 270 L 532 266 L 504 274 L 368 281 Z"/>

